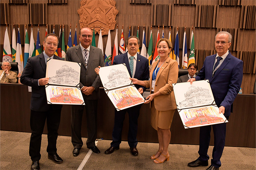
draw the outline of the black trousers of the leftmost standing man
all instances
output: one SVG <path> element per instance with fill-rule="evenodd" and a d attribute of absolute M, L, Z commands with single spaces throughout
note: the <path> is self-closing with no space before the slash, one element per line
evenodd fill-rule
<path fill-rule="evenodd" d="M 31 110 L 30 127 L 32 133 L 29 144 L 29 156 L 32 161 L 39 161 L 41 158 L 40 148 L 45 120 L 48 131 L 48 146 L 46 151 L 51 155 L 57 153 L 56 142 L 58 138 L 58 128 L 61 121 L 61 109 L 53 110 L 51 106 L 49 110 L 45 112 Z"/>

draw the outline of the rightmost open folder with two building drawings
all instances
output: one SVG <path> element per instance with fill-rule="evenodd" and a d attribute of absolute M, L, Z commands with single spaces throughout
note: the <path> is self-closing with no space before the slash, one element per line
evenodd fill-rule
<path fill-rule="evenodd" d="M 175 83 L 173 91 L 185 129 L 228 122 L 225 116 L 219 113 L 209 80 L 194 81 L 192 84 Z"/>

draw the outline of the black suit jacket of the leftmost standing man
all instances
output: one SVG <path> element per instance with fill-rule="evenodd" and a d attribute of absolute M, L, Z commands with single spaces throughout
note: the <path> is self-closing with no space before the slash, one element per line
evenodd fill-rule
<path fill-rule="evenodd" d="M 57 60 L 64 60 L 56 55 L 53 57 Z M 38 80 L 45 78 L 46 64 L 43 52 L 35 57 L 29 57 L 26 67 L 24 68 L 20 82 L 32 87 L 30 109 L 34 111 L 48 111 L 50 104 L 47 104 L 45 86 L 38 86 Z M 53 104 L 52 108 L 60 109 L 62 104 Z"/>

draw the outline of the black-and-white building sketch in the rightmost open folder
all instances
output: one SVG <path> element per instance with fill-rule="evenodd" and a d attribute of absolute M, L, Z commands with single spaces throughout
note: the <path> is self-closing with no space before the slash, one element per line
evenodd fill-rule
<path fill-rule="evenodd" d="M 194 107 L 212 102 L 209 89 L 190 86 L 184 94 L 185 100 L 179 102 L 180 107 Z"/>

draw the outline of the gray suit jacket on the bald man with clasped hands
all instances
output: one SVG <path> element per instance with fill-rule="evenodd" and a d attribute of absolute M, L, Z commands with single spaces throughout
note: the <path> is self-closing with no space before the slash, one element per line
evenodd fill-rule
<path fill-rule="evenodd" d="M 104 58 L 101 49 L 90 46 L 90 56 L 87 69 L 85 67 L 80 44 L 67 50 L 66 61 L 81 63 L 80 88 L 82 88 L 83 86 L 93 86 L 96 88 L 96 90 L 94 90 L 91 95 L 83 95 L 83 97 L 88 100 L 99 99 L 99 87 L 101 84 L 101 80 L 100 76 L 95 73 L 94 69 L 98 66 L 104 67 Z"/>

